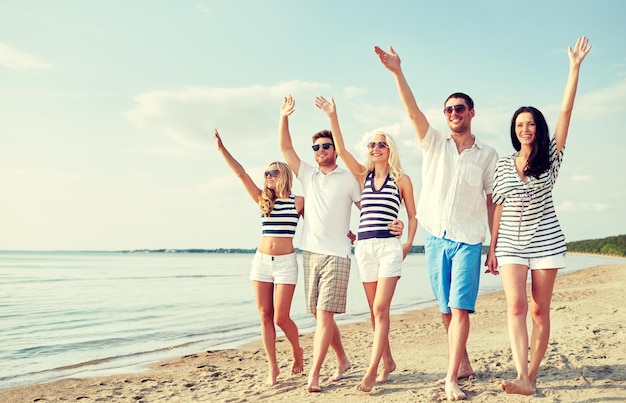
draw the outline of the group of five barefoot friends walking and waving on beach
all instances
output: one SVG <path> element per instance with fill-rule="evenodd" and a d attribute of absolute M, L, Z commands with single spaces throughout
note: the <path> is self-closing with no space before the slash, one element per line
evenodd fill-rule
<path fill-rule="evenodd" d="M 425 232 L 429 280 L 448 337 L 448 368 L 440 381 L 448 400 L 466 398 L 458 380 L 474 373 L 466 344 L 487 231 L 491 242 L 484 265 L 486 273 L 502 277 L 508 334 L 517 369 L 517 378 L 503 381 L 501 388 L 512 394 L 535 393 L 539 365 L 550 336 L 552 291 L 558 269 L 565 267 L 565 237 L 556 217 L 552 188 L 563 160 L 580 65 L 590 50 L 586 37 L 578 38 L 574 47 L 568 48 L 569 72 L 554 136 L 550 138 L 539 110 L 521 107 L 511 119 L 515 152 L 499 159 L 495 149 L 472 133 L 476 112 L 468 95 L 450 95 L 443 108 L 449 131 L 434 129 L 415 100 L 399 55 L 391 46 L 387 52 L 376 46 L 374 52 L 395 79 L 417 146 L 423 152 L 417 208 L 413 184 L 402 169 L 392 136 L 375 132 L 367 143 L 366 161 L 357 161 L 345 147 L 333 98 L 315 98 L 315 105 L 330 122 L 330 130 L 315 133 L 312 138 L 316 165 L 301 160 L 293 148 L 289 117 L 295 110 L 295 100 L 291 96 L 284 98 L 278 144 L 286 163 L 269 164 L 262 188 L 214 131 L 217 149 L 262 213 L 262 237 L 250 279 L 269 364 L 268 386 L 277 383 L 280 372 L 275 325 L 291 345 L 291 373 L 304 372 L 298 328 L 290 317 L 298 277 L 293 237 L 300 218 L 305 299 L 308 312 L 316 319 L 307 390 L 322 390 L 320 371 L 329 348 L 337 360 L 330 380 L 341 379 L 350 369 L 335 314 L 346 311 L 354 241 L 349 225 L 354 204 L 360 209 L 354 256 L 374 331 L 370 364 L 356 389 L 369 392 L 375 384 L 387 381 L 396 369 L 389 343 L 390 306 L 419 219 Z M 347 170 L 337 165 L 337 157 Z M 292 194 L 293 174 L 302 184 L 303 196 Z M 406 228 L 398 219 L 401 208 L 406 209 Z M 400 238 L 405 229 L 403 243 Z M 529 270 L 530 304 L 526 291 Z M 526 325 L 529 308 L 530 338 Z"/>

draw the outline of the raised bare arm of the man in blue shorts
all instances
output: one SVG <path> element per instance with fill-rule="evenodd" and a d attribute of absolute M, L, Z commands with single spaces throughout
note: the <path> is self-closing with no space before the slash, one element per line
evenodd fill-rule
<path fill-rule="evenodd" d="M 404 77 L 402 67 L 400 66 L 400 56 L 398 56 L 391 46 L 389 46 L 389 53 L 385 52 L 378 46 L 374 47 L 374 52 L 378 55 L 378 58 L 383 66 L 385 66 L 387 70 L 391 71 L 396 79 L 396 86 L 398 87 L 400 100 L 404 105 L 404 109 L 406 109 L 409 114 L 409 118 L 411 119 L 411 123 L 415 129 L 417 140 L 422 141 L 428 131 L 429 123 L 424 113 L 422 113 L 419 106 L 417 106 L 417 102 L 415 101 L 413 92 L 409 87 L 409 83 Z"/>

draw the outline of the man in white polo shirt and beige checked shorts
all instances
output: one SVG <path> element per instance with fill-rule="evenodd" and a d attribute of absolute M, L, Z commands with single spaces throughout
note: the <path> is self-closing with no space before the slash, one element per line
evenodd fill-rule
<path fill-rule="evenodd" d="M 354 176 L 337 166 L 337 152 L 328 130 L 313 136 L 314 167 L 300 160 L 293 149 L 288 117 L 295 101 L 285 97 L 279 122 L 279 148 L 285 161 L 302 183 L 304 214 L 300 249 L 304 266 L 307 310 L 315 315 L 313 362 L 307 390 L 320 392 L 320 370 L 330 346 L 337 356 L 337 370 L 331 380 L 339 380 L 350 369 L 341 343 L 335 313 L 346 311 L 350 277 L 350 211 L 358 207 L 361 187 Z"/>

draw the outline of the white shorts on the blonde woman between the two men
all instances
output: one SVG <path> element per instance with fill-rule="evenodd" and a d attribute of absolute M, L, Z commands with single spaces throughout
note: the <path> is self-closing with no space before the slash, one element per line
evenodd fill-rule
<path fill-rule="evenodd" d="M 357 241 L 354 256 L 363 283 L 378 281 L 381 277 L 400 277 L 402 274 L 402 243 L 398 238 Z"/>

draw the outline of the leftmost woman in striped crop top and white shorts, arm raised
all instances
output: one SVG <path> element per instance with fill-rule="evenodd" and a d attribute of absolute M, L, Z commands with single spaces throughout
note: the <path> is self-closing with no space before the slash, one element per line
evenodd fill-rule
<path fill-rule="evenodd" d="M 298 220 L 304 214 L 304 198 L 291 194 L 293 176 L 283 162 L 272 162 L 265 171 L 263 189 L 259 188 L 224 147 L 217 129 L 213 132 L 215 145 L 261 210 L 263 236 L 252 261 L 250 279 L 253 282 L 257 307 L 261 316 L 261 336 L 269 364 L 267 386 L 276 384 L 280 373 L 276 360 L 277 324 L 291 344 L 292 374 L 304 370 L 303 351 L 298 327 L 290 317 L 291 302 L 298 279 L 298 261 L 293 237 Z"/>

